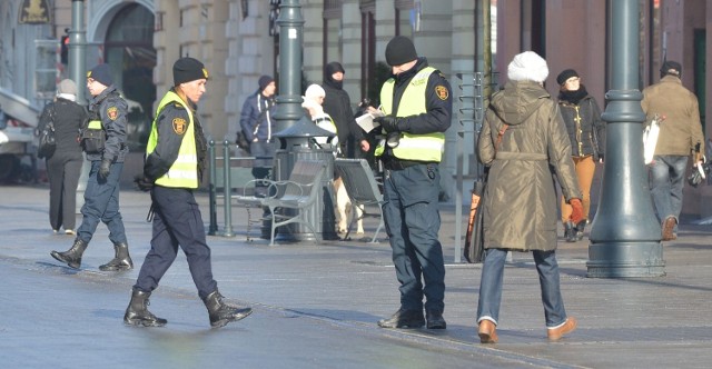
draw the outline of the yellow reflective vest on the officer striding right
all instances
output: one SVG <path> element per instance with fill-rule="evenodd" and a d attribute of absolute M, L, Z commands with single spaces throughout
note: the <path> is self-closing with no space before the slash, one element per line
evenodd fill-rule
<path fill-rule="evenodd" d="M 169 103 L 179 103 L 188 112 L 190 119 L 186 133 L 184 133 L 178 158 L 170 166 L 168 172 L 156 180 L 156 184 L 172 188 L 198 188 L 198 154 L 196 151 L 195 126 L 192 124 L 192 113 L 188 106 L 174 91 L 168 91 L 164 99 L 160 100 L 158 109 L 156 109 L 156 119 L 151 127 L 151 134 L 148 137 L 146 146 L 146 154 L 149 156 L 156 150 L 158 144 L 157 119 L 161 109 Z"/>

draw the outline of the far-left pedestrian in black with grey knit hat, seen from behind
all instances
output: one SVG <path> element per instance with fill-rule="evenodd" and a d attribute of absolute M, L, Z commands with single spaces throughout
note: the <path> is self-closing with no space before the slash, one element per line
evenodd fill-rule
<path fill-rule="evenodd" d="M 77 223 L 77 186 L 81 173 L 81 147 L 77 140 L 87 121 L 86 109 L 77 102 L 77 84 L 63 79 L 57 86 L 57 97 L 40 116 L 39 131 L 52 122 L 57 149 L 46 159 L 49 179 L 49 223 L 55 233 L 75 236 Z"/>

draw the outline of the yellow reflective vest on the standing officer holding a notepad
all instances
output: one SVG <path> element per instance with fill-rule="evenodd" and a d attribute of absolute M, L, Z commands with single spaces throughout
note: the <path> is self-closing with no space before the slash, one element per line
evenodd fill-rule
<path fill-rule="evenodd" d="M 408 83 L 400 97 L 398 111 L 396 117 L 417 116 L 427 112 L 425 96 L 427 92 L 427 80 L 435 71 L 435 68 L 426 67 L 421 70 Z M 395 79 L 388 79 L 380 89 L 380 103 L 383 112 L 388 116 L 393 114 L 393 90 Z M 382 156 L 385 151 L 386 140 L 382 139 L 376 147 L 375 154 Z M 400 141 L 396 148 L 393 148 L 393 154 L 398 159 L 416 160 L 416 161 L 435 161 L 439 162 L 443 158 L 445 149 L 445 133 L 434 132 L 426 134 L 412 134 L 403 132 Z"/>

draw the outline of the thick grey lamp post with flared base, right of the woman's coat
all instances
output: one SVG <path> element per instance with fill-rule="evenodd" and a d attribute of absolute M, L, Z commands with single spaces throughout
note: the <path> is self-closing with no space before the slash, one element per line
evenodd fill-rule
<path fill-rule="evenodd" d="M 587 277 L 664 276 L 661 228 L 643 163 L 639 90 L 637 0 L 613 1 L 613 84 L 606 93 L 605 167 L 601 201 L 591 229 Z"/>

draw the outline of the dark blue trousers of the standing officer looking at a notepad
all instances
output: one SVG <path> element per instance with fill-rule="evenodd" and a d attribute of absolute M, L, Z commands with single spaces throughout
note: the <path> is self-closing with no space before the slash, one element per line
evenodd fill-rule
<path fill-rule="evenodd" d="M 439 171 L 437 164 L 386 170 L 383 213 L 400 282 L 400 308 L 443 311 L 445 262 L 438 240 Z"/>

